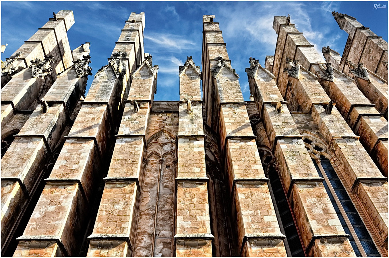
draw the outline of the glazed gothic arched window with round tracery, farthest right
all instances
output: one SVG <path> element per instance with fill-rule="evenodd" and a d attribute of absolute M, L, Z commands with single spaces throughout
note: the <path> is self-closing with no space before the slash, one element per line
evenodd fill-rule
<path fill-rule="evenodd" d="M 356 256 L 380 257 L 369 232 L 331 164 L 331 155 L 326 145 L 321 140 L 308 135 L 304 135 L 303 141 L 310 152 L 317 173 L 324 178 L 324 188 L 344 231 L 350 235 L 349 241 Z"/>

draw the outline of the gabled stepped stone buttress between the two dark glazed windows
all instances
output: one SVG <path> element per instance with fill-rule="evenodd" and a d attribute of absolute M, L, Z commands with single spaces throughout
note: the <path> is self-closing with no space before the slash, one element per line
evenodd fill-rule
<path fill-rule="evenodd" d="M 355 256 L 274 75 L 254 58 L 250 58 L 246 72 L 305 253 L 308 256 Z M 312 213 L 312 208 L 320 209 L 320 215 Z"/>

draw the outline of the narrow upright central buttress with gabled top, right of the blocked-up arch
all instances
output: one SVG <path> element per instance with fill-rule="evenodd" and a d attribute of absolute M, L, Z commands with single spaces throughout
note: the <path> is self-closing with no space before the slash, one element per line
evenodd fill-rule
<path fill-rule="evenodd" d="M 180 66 L 178 163 L 176 183 L 175 256 L 210 257 L 212 240 L 205 135 L 200 94 L 201 72 L 188 57 Z"/>

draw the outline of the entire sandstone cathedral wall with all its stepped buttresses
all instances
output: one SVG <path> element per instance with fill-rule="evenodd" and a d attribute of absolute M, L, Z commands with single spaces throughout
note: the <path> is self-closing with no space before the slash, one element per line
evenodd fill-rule
<path fill-rule="evenodd" d="M 180 99 L 155 101 L 143 12 L 87 96 L 89 43 L 54 14 L 2 63 L 2 255 L 387 256 L 387 43 L 333 16 L 349 39 L 324 58 L 275 16 L 244 101 L 204 15 L 202 68 L 187 56 Z"/>

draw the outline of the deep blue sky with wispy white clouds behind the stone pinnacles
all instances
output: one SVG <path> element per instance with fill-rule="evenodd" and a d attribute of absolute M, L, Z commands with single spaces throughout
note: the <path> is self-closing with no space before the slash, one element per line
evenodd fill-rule
<path fill-rule="evenodd" d="M 245 67 L 249 57 L 263 65 L 266 55 L 273 55 L 277 34 L 272 28 L 273 16 L 287 16 L 321 53 L 329 45 L 342 54 L 347 33 L 340 30 L 332 17 L 333 10 L 354 16 L 365 27 L 388 40 L 388 10 L 373 9 L 374 2 L 1 2 L 1 44 L 4 61 L 53 12 L 73 10 L 75 24 L 68 31 L 70 47 L 91 43 L 90 66 L 95 74 L 107 64 L 124 21 L 131 12 L 145 12 L 145 52 L 159 65 L 156 100 L 179 99 L 178 66 L 193 56 L 201 66 L 202 16 L 214 14 L 223 30 L 224 42 L 232 68 L 240 75 L 240 86 L 246 100 L 249 87 Z M 201 68 L 201 67 L 200 67 Z M 88 87 L 93 80 L 89 77 Z"/>

